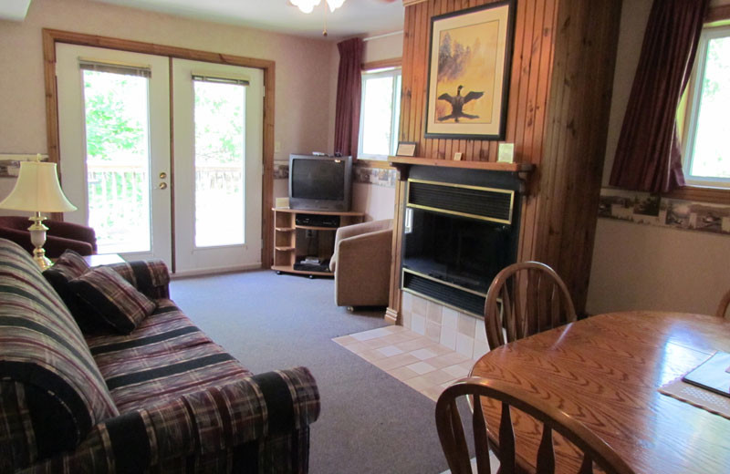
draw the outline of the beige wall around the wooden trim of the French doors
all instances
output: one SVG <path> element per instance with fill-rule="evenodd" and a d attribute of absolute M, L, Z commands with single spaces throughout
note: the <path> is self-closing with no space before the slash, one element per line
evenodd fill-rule
<path fill-rule="evenodd" d="M 331 83 L 337 80 L 329 74 L 329 42 L 89 0 L 34 0 L 24 22 L 0 21 L 0 153 L 47 151 L 43 27 L 274 60 L 275 139 L 281 146 L 275 160 L 327 147 Z M 0 180 L 0 198 L 12 185 Z"/>

